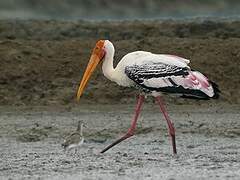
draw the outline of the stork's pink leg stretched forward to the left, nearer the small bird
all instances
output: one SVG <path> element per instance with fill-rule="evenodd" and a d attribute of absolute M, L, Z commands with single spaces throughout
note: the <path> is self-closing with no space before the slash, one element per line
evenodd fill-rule
<path fill-rule="evenodd" d="M 135 110 L 135 115 L 134 115 L 131 127 L 128 129 L 127 133 L 124 136 L 122 136 L 121 138 L 119 138 L 118 140 L 116 140 L 114 143 L 110 144 L 105 149 L 103 149 L 101 151 L 101 153 L 106 152 L 108 149 L 112 148 L 113 146 L 119 144 L 123 140 L 125 140 L 125 139 L 134 135 L 134 131 L 135 131 L 136 125 L 137 125 L 137 119 L 138 119 L 138 116 L 141 112 L 141 107 L 142 107 L 144 99 L 145 99 L 144 95 L 139 95 L 136 110 Z"/>

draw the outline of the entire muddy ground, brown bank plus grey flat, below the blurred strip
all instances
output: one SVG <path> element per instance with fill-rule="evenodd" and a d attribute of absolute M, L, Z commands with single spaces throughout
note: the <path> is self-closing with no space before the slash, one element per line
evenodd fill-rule
<path fill-rule="evenodd" d="M 165 98 L 177 156 L 151 98 L 137 135 L 99 154 L 129 127 L 136 93 L 99 68 L 76 103 L 102 38 L 116 63 L 134 50 L 175 54 L 219 84 L 218 100 Z M 240 179 L 239 50 L 240 21 L 0 20 L 0 179 Z M 66 154 L 60 144 L 79 119 L 86 142 Z"/>

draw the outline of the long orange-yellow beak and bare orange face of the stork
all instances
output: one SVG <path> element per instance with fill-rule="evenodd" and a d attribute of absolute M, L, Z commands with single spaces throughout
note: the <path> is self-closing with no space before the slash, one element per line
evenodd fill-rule
<path fill-rule="evenodd" d="M 104 55 L 105 55 L 104 40 L 99 40 L 96 43 L 95 48 L 93 49 L 92 55 L 90 57 L 88 65 L 87 65 L 87 68 L 84 72 L 82 81 L 78 88 L 77 101 L 79 101 L 90 76 L 92 75 L 93 71 L 96 69 L 98 63 L 104 58 Z"/>

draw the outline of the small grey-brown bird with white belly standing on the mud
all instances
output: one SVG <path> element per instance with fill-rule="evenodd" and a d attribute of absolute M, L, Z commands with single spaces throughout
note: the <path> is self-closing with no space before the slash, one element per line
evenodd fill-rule
<path fill-rule="evenodd" d="M 78 121 L 77 130 L 70 134 L 69 136 L 67 136 L 64 142 L 62 143 L 64 150 L 71 150 L 74 148 L 76 153 L 77 148 L 80 147 L 84 142 L 82 132 L 83 126 L 86 127 L 82 121 Z"/>

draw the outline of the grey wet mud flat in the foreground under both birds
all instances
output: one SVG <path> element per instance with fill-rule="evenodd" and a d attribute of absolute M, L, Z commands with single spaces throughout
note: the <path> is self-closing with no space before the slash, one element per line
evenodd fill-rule
<path fill-rule="evenodd" d="M 144 107 L 137 135 L 105 154 L 130 125 L 133 105 L 1 107 L 0 179 L 239 179 L 238 106 L 170 106 L 177 130 L 173 156 L 166 123 Z M 65 153 L 61 142 L 87 123 L 86 142 Z"/>

